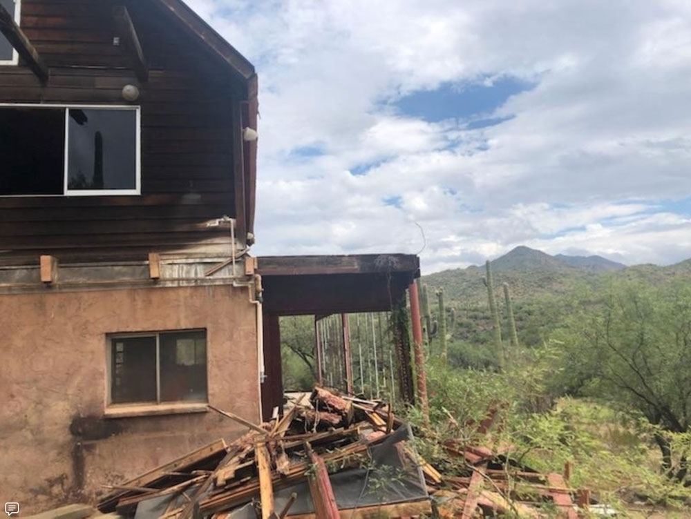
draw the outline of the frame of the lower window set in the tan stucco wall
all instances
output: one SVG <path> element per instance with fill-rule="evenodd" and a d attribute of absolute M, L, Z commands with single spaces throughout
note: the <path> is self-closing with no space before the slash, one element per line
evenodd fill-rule
<path fill-rule="evenodd" d="M 205 378 L 206 378 L 206 398 L 205 400 L 161 400 L 161 335 L 168 333 L 193 333 L 193 332 L 203 332 L 205 339 Z M 140 402 L 113 402 L 113 370 L 115 366 L 113 365 L 113 348 L 115 348 L 115 342 L 119 339 L 131 339 L 135 337 L 155 337 L 156 340 L 156 401 L 142 400 Z M 162 331 L 151 331 L 151 332 L 136 332 L 136 333 L 109 333 L 106 335 L 106 407 L 110 409 L 118 409 L 122 407 L 131 406 L 151 406 L 151 407 L 169 407 L 171 405 L 191 405 L 198 406 L 209 403 L 209 334 L 205 328 L 193 328 L 184 330 L 162 330 Z"/>

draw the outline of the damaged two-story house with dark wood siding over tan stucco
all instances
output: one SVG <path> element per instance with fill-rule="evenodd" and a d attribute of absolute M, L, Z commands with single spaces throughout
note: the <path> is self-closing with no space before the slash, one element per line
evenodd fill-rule
<path fill-rule="evenodd" d="M 245 431 L 209 403 L 260 422 L 279 315 L 405 304 L 415 256 L 249 255 L 255 70 L 181 0 L 0 0 L 0 32 L 5 501 Z"/>

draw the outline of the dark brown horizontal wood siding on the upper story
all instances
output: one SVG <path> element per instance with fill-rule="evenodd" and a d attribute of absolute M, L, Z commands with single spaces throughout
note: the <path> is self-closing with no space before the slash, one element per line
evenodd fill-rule
<path fill-rule="evenodd" d="M 0 102 L 123 105 L 122 87 L 139 86 L 142 195 L 0 197 L 0 265 L 40 254 L 67 262 L 229 251 L 229 231 L 207 222 L 234 216 L 231 117 L 241 87 L 149 1 L 120 0 L 149 61 L 140 84 L 126 48 L 113 45 L 115 3 L 23 0 L 21 28 L 50 80 L 41 86 L 21 63 L 0 67 Z"/>

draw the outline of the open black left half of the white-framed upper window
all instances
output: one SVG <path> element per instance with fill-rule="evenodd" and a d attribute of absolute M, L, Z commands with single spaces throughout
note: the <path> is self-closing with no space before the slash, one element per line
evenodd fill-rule
<path fill-rule="evenodd" d="M 64 163 L 64 108 L 0 109 L 0 195 L 61 195 Z"/>

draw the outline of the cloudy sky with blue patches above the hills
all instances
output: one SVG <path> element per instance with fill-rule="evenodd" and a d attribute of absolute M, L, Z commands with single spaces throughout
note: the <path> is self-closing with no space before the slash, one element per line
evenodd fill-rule
<path fill-rule="evenodd" d="M 187 0 L 259 77 L 256 255 L 691 257 L 688 0 Z"/>

